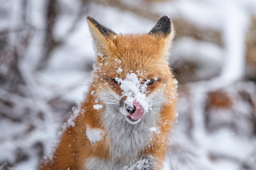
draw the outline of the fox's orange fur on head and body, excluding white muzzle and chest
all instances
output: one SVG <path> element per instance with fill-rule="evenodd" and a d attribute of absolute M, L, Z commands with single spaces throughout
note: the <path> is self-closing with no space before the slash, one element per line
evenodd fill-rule
<path fill-rule="evenodd" d="M 144 34 L 144 35 L 116 35 L 114 32 L 102 33 L 95 23 L 87 18 L 92 37 L 97 42 L 97 59 L 94 69 L 94 77 L 86 100 L 80 106 L 80 113 L 73 120 L 75 126 L 68 126 L 60 137 L 53 158 L 45 159 L 39 169 L 85 169 L 86 161 L 90 158 L 98 158 L 108 161 L 118 159 L 117 162 L 126 160 L 126 156 L 114 157 L 111 153 L 111 140 L 108 136 L 108 129 L 104 125 L 105 110 L 96 110 L 95 104 L 104 105 L 98 100 L 99 94 L 112 91 L 121 96 L 122 89 L 119 84 L 113 82 L 115 77 L 125 79 L 128 73 L 136 73 L 138 78 L 157 80 L 148 85 L 146 96 L 150 96 L 157 90 L 162 90 L 162 96 L 169 96 L 166 101 L 158 107 L 160 120 L 158 127 L 160 133 L 153 133 L 153 137 L 146 146 L 142 146 L 139 156 L 151 155 L 156 159 L 155 169 L 161 169 L 164 155 L 166 153 L 171 123 L 175 119 L 176 108 L 176 83 L 167 63 L 168 50 L 173 38 L 173 27 L 171 32 Z M 103 54 L 103 56 L 102 56 Z M 120 62 L 116 62 L 116 61 Z M 117 73 L 118 68 L 123 71 Z M 137 71 L 139 70 L 139 72 Z M 141 74 L 142 73 L 142 74 Z M 170 97 L 171 96 L 171 97 Z M 121 101 L 125 98 L 121 99 Z M 145 119 L 147 118 L 145 113 Z M 102 118 L 103 117 L 103 118 Z M 144 118 L 144 117 L 143 117 Z M 141 121 L 144 121 L 142 118 Z M 105 118 L 106 119 L 106 118 Z M 107 120 L 109 121 L 109 120 Z M 139 122 L 141 123 L 141 122 Z M 129 126 L 134 126 L 130 124 Z M 102 138 L 92 144 L 86 135 L 86 128 L 100 129 Z M 122 132 L 125 133 L 125 132 Z M 134 155 L 137 158 L 138 155 Z M 132 160 L 131 160 L 132 161 Z"/>

